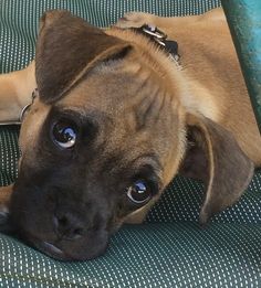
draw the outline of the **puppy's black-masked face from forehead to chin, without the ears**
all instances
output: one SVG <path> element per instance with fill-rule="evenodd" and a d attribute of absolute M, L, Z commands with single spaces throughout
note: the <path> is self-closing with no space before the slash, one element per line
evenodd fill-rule
<path fill-rule="evenodd" d="M 116 65 L 94 72 L 51 107 L 36 100 L 22 126 L 12 215 L 29 241 L 52 243 L 64 257 L 103 253 L 125 216 L 159 195 L 169 182 L 164 168 L 170 161 L 177 170 L 180 158 L 182 132 L 168 128 L 178 132 L 177 115 L 166 103 L 161 113 L 170 117 L 157 118 L 158 104 L 149 94 L 133 95 L 139 81 Z M 140 109 L 149 108 L 144 116 Z"/>

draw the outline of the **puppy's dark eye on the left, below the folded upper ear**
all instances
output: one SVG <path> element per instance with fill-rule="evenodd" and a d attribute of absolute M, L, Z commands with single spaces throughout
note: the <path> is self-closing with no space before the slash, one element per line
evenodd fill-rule
<path fill-rule="evenodd" d="M 61 148 L 72 148 L 76 142 L 77 129 L 74 124 L 61 120 L 53 126 L 54 142 Z"/>

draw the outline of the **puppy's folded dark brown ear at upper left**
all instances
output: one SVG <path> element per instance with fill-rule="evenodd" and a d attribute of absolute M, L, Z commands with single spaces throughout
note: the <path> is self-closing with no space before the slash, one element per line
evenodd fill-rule
<path fill-rule="evenodd" d="M 97 63 L 121 58 L 130 49 L 67 11 L 49 11 L 40 23 L 35 77 L 40 98 L 60 99 Z"/>

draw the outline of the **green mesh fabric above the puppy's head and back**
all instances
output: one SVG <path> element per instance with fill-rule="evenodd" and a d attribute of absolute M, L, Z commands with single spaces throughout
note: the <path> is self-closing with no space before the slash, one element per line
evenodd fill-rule
<path fill-rule="evenodd" d="M 19 70 L 33 58 L 39 19 L 46 10 L 70 10 L 94 25 L 107 26 L 129 11 L 184 15 L 218 6 L 220 0 L 1 0 L 0 72 Z"/>

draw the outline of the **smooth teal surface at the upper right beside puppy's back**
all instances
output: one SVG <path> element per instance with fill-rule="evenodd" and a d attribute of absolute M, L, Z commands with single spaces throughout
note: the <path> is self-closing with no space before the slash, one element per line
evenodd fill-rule
<path fill-rule="evenodd" d="M 261 1 L 222 0 L 261 132 Z"/>

